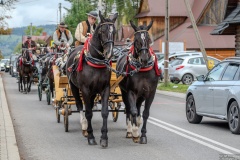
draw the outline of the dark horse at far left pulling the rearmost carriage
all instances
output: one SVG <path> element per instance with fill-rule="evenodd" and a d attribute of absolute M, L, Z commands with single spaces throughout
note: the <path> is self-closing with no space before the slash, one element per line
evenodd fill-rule
<path fill-rule="evenodd" d="M 31 83 L 33 81 L 33 59 L 31 50 L 22 49 L 22 56 L 19 59 L 19 89 L 21 92 L 28 93 L 31 91 Z M 23 90 L 23 86 L 24 90 Z"/>

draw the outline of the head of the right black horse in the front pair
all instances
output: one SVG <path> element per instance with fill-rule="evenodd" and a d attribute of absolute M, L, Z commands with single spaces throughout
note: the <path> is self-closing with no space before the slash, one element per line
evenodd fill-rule
<path fill-rule="evenodd" d="M 148 30 L 152 27 L 153 21 L 150 22 L 148 26 L 141 25 L 135 26 L 132 21 L 130 21 L 133 27 L 134 33 L 134 58 L 138 59 L 142 67 L 147 66 L 151 55 L 149 53 L 149 47 L 151 44 L 151 38 L 148 34 Z"/>

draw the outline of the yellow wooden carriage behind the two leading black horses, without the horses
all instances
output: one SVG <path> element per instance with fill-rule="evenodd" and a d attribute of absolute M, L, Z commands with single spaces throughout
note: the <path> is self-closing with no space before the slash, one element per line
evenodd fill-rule
<path fill-rule="evenodd" d="M 116 69 L 116 62 L 112 63 L 112 68 Z M 53 105 L 56 109 L 57 122 L 60 122 L 60 116 L 64 116 L 64 127 L 65 131 L 68 132 L 68 116 L 72 113 L 79 112 L 79 110 L 72 110 L 71 106 L 76 105 L 75 98 L 72 95 L 69 79 L 66 75 L 61 74 L 59 67 L 53 66 L 54 74 L 54 85 L 55 85 L 55 97 L 53 99 Z M 122 77 L 117 78 L 115 72 L 111 72 L 110 80 L 110 96 L 108 99 L 109 111 L 112 112 L 113 121 L 116 122 L 118 119 L 118 113 L 124 112 L 121 109 L 122 96 L 118 83 Z M 80 98 L 82 99 L 81 93 Z M 94 100 L 94 106 L 101 103 L 101 96 L 98 94 Z M 93 112 L 101 111 L 97 109 Z M 85 112 L 85 110 L 83 110 Z"/>

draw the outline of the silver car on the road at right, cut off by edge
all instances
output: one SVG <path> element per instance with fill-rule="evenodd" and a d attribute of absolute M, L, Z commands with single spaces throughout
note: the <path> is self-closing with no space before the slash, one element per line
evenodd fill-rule
<path fill-rule="evenodd" d="M 200 75 L 186 93 L 186 118 L 200 123 L 203 116 L 226 120 L 233 134 L 240 134 L 240 58 L 218 63 Z"/>

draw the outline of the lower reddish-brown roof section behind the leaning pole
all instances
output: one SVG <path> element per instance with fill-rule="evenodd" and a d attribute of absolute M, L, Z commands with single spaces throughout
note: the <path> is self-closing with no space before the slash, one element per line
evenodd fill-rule
<path fill-rule="evenodd" d="M 197 38 L 194 33 L 193 28 L 189 28 L 190 22 L 185 22 L 173 31 L 169 33 L 169 41 L 170 42 L 185 42 L 186 48 L 195 49 L 200 48 Z M 214 26 L 198 26 L 199 34 L 202 38 L 203 45 L 208 49 L 216 49 L 216 48 L 234 48 L 234 36 L 228 35 L 219 35 L 213 36 L 211 35 L 211 31 L 214 29 Z M 160 40 L 164 41 L 165 36 L 159 38 L 154 42 L 153 49 L 159 49 Z"/>

